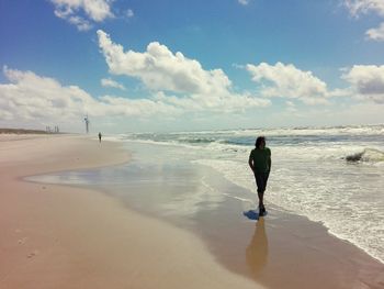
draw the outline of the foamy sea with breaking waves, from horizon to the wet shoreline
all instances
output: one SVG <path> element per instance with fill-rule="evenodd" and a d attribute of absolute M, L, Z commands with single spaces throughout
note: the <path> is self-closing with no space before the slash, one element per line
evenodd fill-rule
<path fill-rule="evenodd" d="M 267 137 L 272 152 L 267 202 L 321 222 L 335 236 L 384 263 L 384 125 L 127 133 L 117 137 L 161 146 L 159 152 L 168 149 L 162 157 L 215 169 L 253 196 L 233 190 L 225 197 L 255 207 L 257 192 L 248 156 L 258 135 Z M 215 189 L 205 193 L 224 197 Z"/>

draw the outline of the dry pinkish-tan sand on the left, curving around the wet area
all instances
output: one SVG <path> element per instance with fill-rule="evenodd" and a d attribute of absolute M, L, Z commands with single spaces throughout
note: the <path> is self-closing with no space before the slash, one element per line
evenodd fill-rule
<path fill-rule="evenodd" d="M 81 136 L 2 137 L 0 287 L 262 288 L 217 263 L 193 234 L 114 198 L 22 179 L 128 159 L 118 143 Z"/>

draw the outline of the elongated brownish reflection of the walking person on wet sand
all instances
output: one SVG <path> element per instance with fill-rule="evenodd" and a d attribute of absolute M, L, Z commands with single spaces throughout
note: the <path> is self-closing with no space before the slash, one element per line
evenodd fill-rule
<path fill-rule="evenodd" d="M 253 277 L 257 277 L 268 260 L 268 240 L 264 227 L 264 218 L 256 223 L 251 242 L 246 249 L 246 258 Z"/>

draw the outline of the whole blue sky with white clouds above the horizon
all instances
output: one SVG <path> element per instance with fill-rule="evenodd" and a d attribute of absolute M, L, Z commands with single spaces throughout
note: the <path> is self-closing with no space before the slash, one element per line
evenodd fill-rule
<path fill-rule="evenodd" d="M 0 127 L 384 123 L 384 0 L 0 0 Z"/>

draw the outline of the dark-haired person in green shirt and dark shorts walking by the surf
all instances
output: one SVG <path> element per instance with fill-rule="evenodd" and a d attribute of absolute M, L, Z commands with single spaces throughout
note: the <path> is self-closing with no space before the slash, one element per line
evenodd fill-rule
<path fill-rule="evenodd" d="M 259 214 L 266 214 L 264 191 L 269 174 L 271 171 L 271 149 L 266 147 L 266 137 L 259 136 L 256 140 L 255 148 L 250 152 L 248 164 L 253 171 L 256 185 L 258 186 Z"/>

